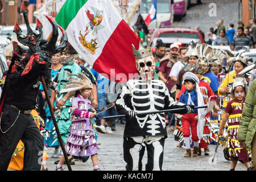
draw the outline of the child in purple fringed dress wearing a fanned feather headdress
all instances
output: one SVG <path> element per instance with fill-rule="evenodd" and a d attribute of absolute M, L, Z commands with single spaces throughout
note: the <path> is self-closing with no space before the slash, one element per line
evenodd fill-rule
<path fill-rule="evenodd" d="M 72 123 L 69 127 L 71 133 L 65 144 L 65 150 L 67 154 L 73 156 L 91 156 L 93 171 L 100 171 L 97 155 L 98 144 L 95 139 L 92 119 L 90 119 L 96 116 L 96 110 L 91 107 L 92 103 L 89 100 L 93 85 L 83 73 L 79 73 L 77 77 L 73 78 L 73 80 L 71 78 L 71 81 L 67 82 L 67 86 L 64 88 L 69 89 L 68 91 L 71 91 L 70 89 L 79 89 L 76 91 L 75 98 L 72 101 Z M 63 155 L 59 164 L 57 164 L 56 171 L 63 171 L 64 162 Z"/>

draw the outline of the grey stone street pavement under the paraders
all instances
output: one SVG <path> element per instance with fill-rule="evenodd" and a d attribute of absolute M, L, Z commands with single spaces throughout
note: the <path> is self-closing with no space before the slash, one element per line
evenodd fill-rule
<path fill-rule="evenodd" d="M 123 129 L 124 125 L 117 123 L 115 125 L 116 131 L 114 134 L 98 133 L 97 142 L 100 143 L 100 150 L 98 152 L 98 164 L 102 171 L 125 171 L 126 163 L 123 160 Z M 168 131 L 168 128 L 167 128 Z M 168 131 L 168 138 L 164 145 L 164 171 L 228 171 L 230 162 L 225 160 L 223 155 L 223 148 L 219 146 L 216 156 L 216 164 L 210 165 L 209 160 L 211 156 L 197 156 L 196 158 L 184 158 L 185 149 L 177 148 L 177 142 L 174 140 L 172 131 Z M 210 155 L 213 154 L 216 145 L 209 145 Z M 55 162 L 59 158 L 51 158 L 54 148 L 47 148 L 49 159 L 46 161 L 46 166 L 49 171 L 55 170 Z M 204 152 L 203 152 L 204 154 Z M 145 151 L 142 160 L 143 170 L 147 163 L 147 152 Z M 76 160 L 75 165 L 71 166 L 73 171 L 92 171 L 92 160 L 89 158 L 87 162 L 82 163 L 81 160 Z M 68 171 L 67 165 L 64 165 L 65 171 Z M 236 171 L 246 171 L 246 167 L 238 162 Z"/>

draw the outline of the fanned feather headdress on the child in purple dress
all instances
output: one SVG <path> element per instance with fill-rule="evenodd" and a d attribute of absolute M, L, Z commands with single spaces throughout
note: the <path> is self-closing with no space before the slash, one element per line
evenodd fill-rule
<path fill-rule="evenodd" d="M 76 91 L 80 89 L 92 89 L 93 84 L 90 79 L 84 75 L 84 73 L 70 74 L 68 75 L 68 82 L 63 89 L 60 90 L 60 93 L 66 93 L 69 91 Z M 73 76 L 73 77 L 71 77 Z"/>

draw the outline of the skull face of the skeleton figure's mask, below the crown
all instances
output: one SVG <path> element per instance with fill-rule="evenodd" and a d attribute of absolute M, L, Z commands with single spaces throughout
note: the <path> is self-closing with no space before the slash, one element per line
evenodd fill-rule
<path fill-rule="evenodd" d="M 151 80 L 154 77 L 155 70 L 154 56 L 148 56 L 136 60 L 136 68 L 142 80 Z"/>

